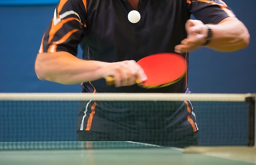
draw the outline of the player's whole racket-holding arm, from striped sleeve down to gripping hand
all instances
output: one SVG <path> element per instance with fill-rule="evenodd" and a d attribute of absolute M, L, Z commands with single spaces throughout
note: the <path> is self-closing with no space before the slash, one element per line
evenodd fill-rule
<path fill-rule="evenodd" d="M 55 8 L 52 23 L 42 38 L 40 53 L 35 61 L 38 78 L 76 84 L 113 76 L 116 87 L 133 85 L 136 79 L 146 80 L 144 71 L 134 60 L 106 63 L 81 60 L 72 55 L 77 53 L 78 43 L 83 39 L 86 27 L 85 2 L 63 1 Z M 69 13 L 68 18 L 65 13 Z"/>

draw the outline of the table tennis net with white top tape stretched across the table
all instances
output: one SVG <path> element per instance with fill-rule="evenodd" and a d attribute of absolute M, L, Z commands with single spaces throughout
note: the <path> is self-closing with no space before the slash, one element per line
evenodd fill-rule
<path fill-rule="evenodd" d="M 0 150 L 252 146 L 254 130 L 251 94 L 0 94 Z"/>

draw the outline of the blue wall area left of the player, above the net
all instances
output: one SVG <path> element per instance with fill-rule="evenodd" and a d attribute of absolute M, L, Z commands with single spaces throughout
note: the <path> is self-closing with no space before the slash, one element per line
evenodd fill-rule
<path fill-rule="evenodd" d="M 79 84 L 65 86 L 38 80 L 35 75 L 35 57 L 54 8 L 55 5 L 0 6 L 0 92 L 81 91 Z"/>

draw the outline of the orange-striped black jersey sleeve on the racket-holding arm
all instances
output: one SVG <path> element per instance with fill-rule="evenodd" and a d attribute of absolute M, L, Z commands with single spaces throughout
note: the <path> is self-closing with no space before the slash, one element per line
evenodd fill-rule
<path fill-rule="evenodd" d="M 38 52 L 66 51 L 76 56 L 86 27 L 85 20 L 86 0 L 60 0 Z"/>

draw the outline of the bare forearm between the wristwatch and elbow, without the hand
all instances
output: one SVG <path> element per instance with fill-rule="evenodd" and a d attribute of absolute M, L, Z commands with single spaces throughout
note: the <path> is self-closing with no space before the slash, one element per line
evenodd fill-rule
<path fill-rule="evenodd" d="M 249 44 L 250 34 L 245 25 L 237 18 L 226 18 L 219 24 L 211 25 L 212 41 L 207 47 L 231 52 L 245 48 Z"/>

